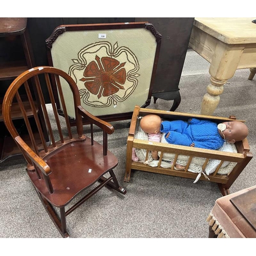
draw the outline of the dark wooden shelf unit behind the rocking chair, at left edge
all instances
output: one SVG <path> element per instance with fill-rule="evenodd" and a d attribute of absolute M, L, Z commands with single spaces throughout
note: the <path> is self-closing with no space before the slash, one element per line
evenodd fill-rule
<path fill-rule="evenodd" d="M 0 87 L 3 81 L 7 81 L 5 86 L 1 88 L 0 98 L 3 100 L 6 86 L 24 71 L 33 68 L 33 54 L 30 47 L 29 35 L 27 28 L 27 18 L 0 18 L 0 39 L 2 39 L 3 48 L 0 56 Z M 2 38 L 1 38 L 2 37 Z M 5 37 L 5 38 L 4 38 Z M 12 46 L 15 51 L 9 49 Z M 15 47 L 17 45 L 17 47 Z M 19 50 L 21 49 L 21 50 Z M 23 51 L 23 52 L 22 52 Z M 2 82 L 2 83 L 1 83 Z M 2 100 L 0 101 L 0 122 L 3 122 L 2 115 Z M 29 102 L 23 101 L 27 116 L 32 116 L 32 110 Z M 35 106 L 37 108 L 36 100 Z M 12 105 L 12 117 L 18 120 L 22 117 L 19 105 L 14 103 Z M 3 125 L 3 123 L 2 123 Z M 22 125 L 22 124 L 21 124 Z M 4 127 L 4 126 L 3 126 Z M 25 130 L 25 129 L 21 129 Z M 26 130 L 25 130 L 26 131 Z M 29 136 L 27 136 L 29 138 Z M 35 137 L 37 132 L 35 131 Z M 30 144 L 26 139 L 26 134 L 23 135 L 25 142 Z M 0 136 L 0 163 L 10 157 L 22 156 L 15 141 L 3 132 Z"/>

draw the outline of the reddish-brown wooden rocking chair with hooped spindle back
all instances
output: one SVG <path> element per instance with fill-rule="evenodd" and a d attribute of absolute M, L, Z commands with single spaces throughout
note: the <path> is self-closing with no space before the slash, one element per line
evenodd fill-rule
<path fill-rule="evenodd" d="M 46 80 L 51 100 L 51 104 L 47 105 L 44 99 L 45 93 L 42 93 L 40 86 L 40 81 L 43 78 Z M 63 117 L 57 113 L 56 99 L 54 99 L 51 87 L 53 79 L 57 84 L 59 100 L 64 110 Z M 74 127 L 70 126 L 66 112 L 65 97 L 63 97 L 62 91 L 63 84 L 67 84 L 68 90 L 73 93 L 73 98 L 66 99 L 66 101 L 68 100 L 70 103 L 73 100 L 74 103 L 76 118 L 76 126 Z M 20 97 L 19 90 L 26 91 L 26 99 Z M 44 125 L 41 125 L 38 119 L 38 105 L 34 104 L 33 93 L 39 98 L 39 106 L 41 106 L 41 111 L 45 117 L 47 133 L 41 128 Z M 25 143 L 22 136 L 15 129 L 11 114 L 13 101 L 17 101 L 20 106 L 20 111 L 23 114 L 31 138 L 31 145 Z M 27 103 L 25 108 L 24 102 L 30 103 L 30 109 Z M 53 114 L 51 115 L 48 113 L 49 105 L 52 106 Z M 40 138 L 40 143 L 35 138 L 31 125 L 32 116 L 37 126 L 39 134 L 37 137 Z M 52 116 L 55 117 L 54 121 Z M 108 151 L 107 136 L 114 132 L 114 128 L 108 122 L 96 118 L 81 107 L 76 83 L 67 73 L 53 67 L 36 67 L 19 75 L 6 92 L 3 102 L 3 117 L 8 131 L 28 162 L 26 169 L 34 188 L 62 237 L 69 237 L 66 216 L 91 198 L 102 187 L 108 186 L 121 194 L 126 194 L 126 190 L 119 186 L 113 172 L 118 160 Z M 88 130 L 91 133 L 91 138 L 83 134 L 82 118 L 90 122 L 90 129 Z M 55 130 L 53 129 L 54 125 L 57 127 Z M 97 125 L 103 131 L 103 145 L 93 140 L 94 125 Z M 87 191 L 84 191 L 85 189 Z M 86 195 L 82 195 L 82 199 L 80 199 L 82 191 Z M 65 209 L 78 195 L 79 199 L 74 200 L 77 202 L 72 203 L 69 209 Z M 55 212 L 55 207 L 60 209 L 60 218 Z"/>

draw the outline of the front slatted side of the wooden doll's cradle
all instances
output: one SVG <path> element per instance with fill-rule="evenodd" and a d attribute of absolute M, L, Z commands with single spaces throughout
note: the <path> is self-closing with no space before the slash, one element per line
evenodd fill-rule
<path fill-rule="evenodd" d="M 245 139 L 245 142 L 244 142 L 245 144 L 246 144 L 246 140 L 247 139 Z M 233 182 L 237 179 L 237 177 L 241 174 L 242 170 L 245 168 L 245 166 L 248 164 L 248 162 L 252 158 L 252 154 L 247 150 L 244 150 L 242 153 L 229 153 L 229 152 L 220 152 L 220 151 L 214 151 L 214 150 L 205 150 L 203 148 L 194 148 L 194 147 L 180 146 L 180 145 L 174 145 L 174 144 L 166 144 L 166 143 L 160 143 L 160 142 L 150 142 L 150 141 L 139 140 L 139 139 L 133 140 L 132 147 L 141 148 L 147 151 L 145 161 L 147 160 L 148 152 L 152 150 L 158 151 L 160 153 L 160 158 L 159 158 L 158 166 L 156 167 L 151 167 L 149 165 L 143 164 L 142 162 L 134 162 L 130 159 L 130 161 L 126 162 L 127 168 L 126 168 L 125 179 L 124 179 L 125 182 L 130 181 L 132 169 L 196 179 L 198 173 L 191 173 L 188 171 L 189 164 L 191 163 L 193 157 L 200 157 L 200 158 L 206 159 L 203 165 L 203 169 L 206 166 L 209 159 L 217 159 L 217 160 L 221 160 L 221 162 L 218 165 L 215 172 L 208 175 L 209 180 L 207 180 L 203 175 L 200 177 L 200 180 L 218 183 L 218 186 L 223 196 L 229 194 L 228 189 L 233 184 Z M 163 153 L 175 154 L 175 159 L 172 164 L 172 167 L 163 168 L 160 166 L 162 162 Z M 176 160 L 179 155 L 184 155 L 189 157 L 185 170 L 174 169 Z M 237 163 L 236 166 L 231 171 L 231 173 L 229 173 L 228 175 L 217 174 L 223 161 Z"/>

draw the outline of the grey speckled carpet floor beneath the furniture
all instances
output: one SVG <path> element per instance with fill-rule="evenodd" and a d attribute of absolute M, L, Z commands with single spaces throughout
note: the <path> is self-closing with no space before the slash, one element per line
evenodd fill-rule
<path fill-rule="evenodd" d="M 235 115 L 246 120 L 249 144 L 255 156 L 256 78 L 248 80 L 249 70 L 238 70 L 227 84 L 214 115 Z M 200 114 L 201 100 L 209 84 L 208 62 L 188 51 L 180 80 L 181 103 L 177 112 Z M 169 110 L 172 101 L 158 99 L 148 106 Z M 207 238 L 206 218 L 221 197 L 216 183 L 134 171 L 123 182 L 126 138 L 130 120 L 112 122 L 109 149 L 119 159 L 114 169 L 125 196 L 110 189 L 100 192 L 67 217 L 73 238 Z M 88 128 L 85 128 L 88 132 Z M 101 139 L 96 130 L 95 139 Z M 253 158 L 230 192 L 256 184 Z M 24 160 L 0 164 L 0 238 L 60 238 L 41 205 L 25 171 Z"/>

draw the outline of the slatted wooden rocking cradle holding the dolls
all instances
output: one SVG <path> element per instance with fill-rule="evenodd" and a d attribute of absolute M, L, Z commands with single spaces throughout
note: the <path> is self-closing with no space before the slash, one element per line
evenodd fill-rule
<path fill-rule="evenodd" d="M 135 132 L 136 132 L 136 128 L 138 128 L 138 125 L 139 125 L 138 119 L 139 117 L 143 117 L 148 114 L 159 115 L 163 120 L 187 121 L 191 117 L 195 117 L 198 119 L 207 119 L 207 120 L 215 121 L 217 123 L 236 120 L 236 117 L 234 116 L 230 116 L 229 118 L 224 118 L 224 117 L 194 115 L 194 114 L 188 114 L 188 113 L 143 109 L 143 108 L 140 108 L 139 106 L 135 106 L 132 120 L 131 120 L 129 135 L 127 137 L 126 170 L 125 170 L 124 181 L 125 182 L 130 181 L 132 169 L 196 179 L 198 176 L 198 173 L 188 172 L 188 167 L 193 157 L 202 157 L 206 159 L 202 167 L 203 169 L 205 168 L 205 166 L 207 165 L 207 162 L 210 159 L 218 159 L 218 160 L 221 160 L 220 164 L 218 165 L 214 173 L 208 175 L 209 180 L 206 179 L 204 175 L 200 177 L 200 180 L 216 182 L 220 188 L 221 194 L 223 196 L 228 195 L 229 194 L 228 189 L 233 184 L 233 182 L 238 178 L 238 176 L 241 174 L 245 166 L 249 163 L 249 161 L 252 158 L 252 153 L 249 152 L 250 148 L 249 148 L 247 138 L 244 139 L 243 141 L 238 141 L 235 143 L 238 153 L 220 152 L 216 150 L 205 150 L 204 148 L 180 146 L 180 145 L 166 144 L 166 143 L 152 142 L 152 141 L 149 142 L 147 140 L 136 139 Z M 145 160 L 147 160 L 148 152 L 152 150 L 160 152 L 158 166 L 151 167 L 149 165 L 143 164 L 143 162 L 132 161 L 133 147 L 146 150 Z M 163 168 L 160 166 L 162 161 L 162 156 L 164 153 L 175 154 L 174 162 L 172 164 L 172 167 L 170 168 Z M 179 155 L 184 155 L 189 157 L 185 170 L 174 169 L 176 160 Z M 235 162 L 237 164 L 234 166 L 234 168 L 229 174 L 219 175 L 218 170 L 221 168 L 221 165 L 223 164 L 224 161 Z"/>

